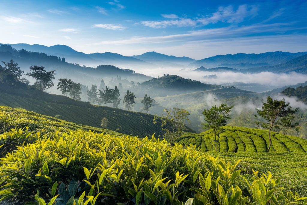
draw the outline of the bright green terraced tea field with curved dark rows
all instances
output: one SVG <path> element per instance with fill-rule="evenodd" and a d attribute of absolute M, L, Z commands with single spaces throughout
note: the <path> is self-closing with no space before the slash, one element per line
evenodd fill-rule
<path fill-rule="evenodd" d="M 236 126 L 223 127 L 225 132 L 217 134 L 216 148 L 218 152 L 266 152 L 269 144 L 267 130 Z M 169 140 L 171 136 L 167 136 Z M 272 132 L 272 146 L 270 152 L 307 152 L 307 140 L 296 136 L 283 136 Z M 214 133 L 211 130 L 196 134 L 190 132 L 177 132 L 174 141 L 179 144 L 195 145 L 201 151 L 215 150 Z"/>

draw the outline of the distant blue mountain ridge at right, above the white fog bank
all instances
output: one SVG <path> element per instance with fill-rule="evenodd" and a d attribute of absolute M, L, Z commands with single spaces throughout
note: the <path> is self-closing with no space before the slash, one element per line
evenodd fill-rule
<path fill-rule="evenodd" d="M 301 53 L 289 53 L 289 52 L 266 52 L 266 53 L 237 53 L 237 54 L 227 54 L 227 55 L 217 55 L 208 58 L 204 58 L 190 65 L 194 67 L 220 67 L 220 66 L 231 66 L 232 68 L 252 68 L 262 66 L 263 63 L 266 65 L 276 65 L 279 63 L 284 63 L 296 57 L 307 54 L 307 52 Z M 242 66 L 245 64 L 245 66 Z M 236 66 L 237 65 L 237 66 Z"/>

